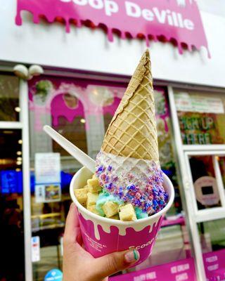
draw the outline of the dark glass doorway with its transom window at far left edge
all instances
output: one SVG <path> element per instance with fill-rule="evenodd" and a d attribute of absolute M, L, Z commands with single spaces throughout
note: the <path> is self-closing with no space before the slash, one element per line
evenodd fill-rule
<path fill-rule="evenodd" d="M 0 280 L 25 280 L 19 79 L 0 75 Z"/>

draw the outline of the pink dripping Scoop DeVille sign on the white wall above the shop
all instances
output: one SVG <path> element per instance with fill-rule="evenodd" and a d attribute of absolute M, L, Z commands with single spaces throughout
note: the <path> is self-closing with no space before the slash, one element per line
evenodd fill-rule
<path fill-rule="evenodd" d="M 34 23 L 39 18 L 49 22 L 91 28 L 101 27 L 113 41 L 113 34 L 122 39 L 144 38 L 170 41 L 179 48 L 207 48 L 207 39 L 195 0 L 18 0 L 15 23 L 22 25 L 21 11 L 29 11 Z"/>

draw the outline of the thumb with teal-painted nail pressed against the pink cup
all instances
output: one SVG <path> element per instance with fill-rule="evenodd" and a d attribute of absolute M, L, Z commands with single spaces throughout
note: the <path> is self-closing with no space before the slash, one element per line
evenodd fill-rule
<path fill-rule="evenodd" d="M 101 258 L 95 259 L 94 276 L 96 280 L 101 280 L 113 273 L 124 270 L 139 260 L 139 251 L 136 249 L 129 249 L 128 251 L 117 251 Z"/>

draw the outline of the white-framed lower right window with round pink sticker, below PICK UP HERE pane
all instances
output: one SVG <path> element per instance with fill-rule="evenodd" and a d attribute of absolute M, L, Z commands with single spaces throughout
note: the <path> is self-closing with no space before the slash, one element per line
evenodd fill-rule
<path fill-rule="evenodd" d="M 224 152 L 185 153 L 190 179 L 189 197 L 198 226 L 200 249 L 207 280 L 224 280 L 225 195 L 221 165 Z"/>

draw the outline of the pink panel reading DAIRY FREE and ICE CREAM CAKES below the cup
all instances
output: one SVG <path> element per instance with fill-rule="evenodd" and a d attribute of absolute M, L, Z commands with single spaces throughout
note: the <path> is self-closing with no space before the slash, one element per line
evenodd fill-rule
<path fill-rule="evenodd" d="M 193 258 L 110 277 L 109 281 L 197 281 Z"/>

